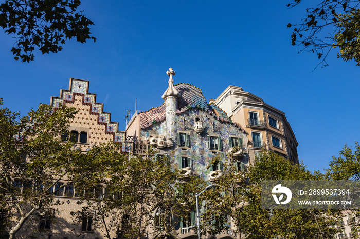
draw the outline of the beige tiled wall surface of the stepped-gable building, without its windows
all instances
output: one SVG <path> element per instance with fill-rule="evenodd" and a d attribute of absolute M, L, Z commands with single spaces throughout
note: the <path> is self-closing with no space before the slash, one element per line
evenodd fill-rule
<path fill-rule="evenodd" d="M 79 133 L 85 131 L 87 143 L 77 143 L 76 149 L 81 147 L 82 151 L 87 151 L 93 145 L 113 141 L 123 144 L 125 150 L 125 133 L 118 130 L 117 122 L 111 121 L 110 113 L 103 112 L 103 104 L 95 102 L 96 94 L 88 93 L 88 86 L 88 81 L 70 78 L 69 90 L 61 90 L 59 97 L 51 97 L 50 105 L 56 108 L 59 104 L 64 104 L 78 109 L 69 130 L 77 130 Z M 53 210 L 51 229 L 38 230 L 39 217 L 32 216 L 17 233 L 17 238 L 103 238 L 104 233 L 99 229 L 82 232 L 81 223 L 75 222 L 74 217 L 70 215 L 70 212 L 80 210 L 82 207 L 77 203 L 79 200 L 77 197 L 54 197 L 54 199 L 58 205 L 49 209 Z M 111 235 L 116 237 L 115 232 Z"/>

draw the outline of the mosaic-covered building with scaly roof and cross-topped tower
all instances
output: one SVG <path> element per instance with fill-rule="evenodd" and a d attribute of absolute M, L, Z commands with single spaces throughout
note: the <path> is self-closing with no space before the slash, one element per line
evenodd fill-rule
<path fill-rule="evenodd" d="M 217 105 L 208 104 L 201 89 L 185 83 L 173 85 L 172 68 L 167 74 L 169 85 L 162 96 L 164 104 L 135 114 L 127 125 L 130 153 L 143 153 L 146 147 L 139 144 L 152 145 L 159 151 L 157 156 L 168 156 L 173 169 L 184 177 L 196 174 L 209 183 L 225 173 L 222 162 L 232 147 L 242 147 L 237 152 L 238 163 L 239 168 L 246 167 L 249 158 L 245 130 Z M 211 158 L 219 154 L 222 162 L 209 165 Z M 189 224 L 195 224 L 194 220 L 192 216 L 191 222 L 175 225 L 179 238 L 196 236 L 194 230 L 187 229 Z M 233 227 L 217 235 L 218 239 L 235 237 Z"/>

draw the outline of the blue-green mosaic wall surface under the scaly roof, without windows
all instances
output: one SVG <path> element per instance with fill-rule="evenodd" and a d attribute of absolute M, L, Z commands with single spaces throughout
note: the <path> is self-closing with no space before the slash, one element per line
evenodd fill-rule
<path fill-rule="evenodd" d="M 194 116 L 199 116 L 203 121 L 204 132 L 197 134 L 194 131 Z M 206 166 L 209 164 L 209 161 L 212 157 L 215 156 L 215 153 L 208 149 L 207 147 L 207 135 L 215 134 L 219 135 L 222 140 L 222 149 L 220 153 L 222 158 L 225 158 L 225 154 L 229 151 L 229 136 L 239 136 L 241 142 L 243 142 L 244 151 L 247 152 L 247 138 L 246 135 L 242 132 L 242 129 L 238 127 L 220 122 L 217 118 L 214 118 L 213 115 L 208 114 L 206 111 L 202 111 L 196 108 L 189 109 L 188 111 L 176 114 L 176 132 L 177 131 L 186 131 L 190 135 L 190 147 L 189 149 L 182 149 L 180 147 L 174 146 L 171 149 L 159 150 L 159 154 L 167 154 L 170 157 L 170 162 L 174 169 L 178 169 L 178 156 L 187 155 L 192 158 L 194 161 L 194 170 L 197 174 L 207 178 L 209 170 L 206 169 Z M 173 132 L 176 135 L 176 132 Z M 166 122 L 154 123 L 150 127 L 143 129 L 141 131 L 141 137 L 149 138 L 151 134 L 156 135 L 167 135 Z M 176 139 L 173 139 L 176 142 Z M 245 157 L 244 163 L 247 164 L 248 160 Z"/>

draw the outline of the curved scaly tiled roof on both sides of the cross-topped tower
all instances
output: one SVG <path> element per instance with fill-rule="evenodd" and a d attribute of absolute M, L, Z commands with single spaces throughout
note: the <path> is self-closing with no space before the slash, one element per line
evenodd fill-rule
<path fill-rule="evenodd" d="M 219 121 L 232 123 L 226 113 L 220 109 L 217 105 L 207 103 L 206 98 L 203 96 L 203 92 L 200 88 L 187 83 L 176 84 L 175 89 L 181 95 L 178 98 L 178 107 L 176 113 L 185 112 L 191 108 L 197 108 L 203 111 L 211 113 L 214 118 Z M 148 128 L 156 122 L 165 120 L 165 104 L 152 108 L 148 111 L 141 112 L 138 114 L 139 123 L 141 128 Z"/>

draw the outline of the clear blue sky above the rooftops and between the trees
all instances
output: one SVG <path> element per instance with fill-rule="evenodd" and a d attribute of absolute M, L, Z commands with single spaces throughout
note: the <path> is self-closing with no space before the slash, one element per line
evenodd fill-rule
<path fill-rule="evenodd" d="M 155 2 L 155 3 L 152 3 Z M 229 85 L 242 87 L 286 113 L 310 170 L 358 140 L 360 68 L 330 53 L 329 66 L 291 45 L 287 23 L 304 16 L 286 1 L 83 1 L 96 43 L 68 41 L 57 54 L 35 52 L 14 61 L 11 35 L 0 33 L 0 97 L 25 115 L 68 89 L 69 78 L 90 81 L 89 92 L 125 129 L 126 110 L 163 103 L 166 71 L 174 82 L 203 90 L 209 101 Z M 308 1 L 309 4 L 309 1 Z"/>

